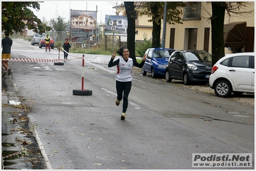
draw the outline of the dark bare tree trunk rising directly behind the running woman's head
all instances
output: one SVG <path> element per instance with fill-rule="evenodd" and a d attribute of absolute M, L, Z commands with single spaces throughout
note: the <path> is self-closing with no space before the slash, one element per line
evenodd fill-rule
<path fill-rule="evenodd" d="M 134 2 L 124 2 L 124 7 L 126 10 L 126 17 L 128 21 L 127 28 L 127 47 L 130 52 L 131 58 L 135 58 L 135 15 Z"/>

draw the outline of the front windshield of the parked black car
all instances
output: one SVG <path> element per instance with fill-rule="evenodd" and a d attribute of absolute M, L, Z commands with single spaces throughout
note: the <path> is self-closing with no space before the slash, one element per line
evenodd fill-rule
<path fill-rule="evenodd" d="M 212 56 L 207 52 L 187 52 L 185 58 L 187 61 L 212 61 Z"/>

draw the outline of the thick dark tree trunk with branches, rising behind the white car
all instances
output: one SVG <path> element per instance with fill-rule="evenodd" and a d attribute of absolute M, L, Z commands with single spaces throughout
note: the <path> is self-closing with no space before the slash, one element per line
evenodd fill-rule
<path fill-rule="evenodd" d="M 254 8 L 252 10 L 246 9 L 250 7 L 250 2 L 212 2 L 212 16 L 210 22 L 212 26 L 212 65 L 214 65 L 219 58 L 225 56 L 225 44 L 224 44 L 224 20 L 225 12 L 228 17 L 239 16 L 248 17 L 253 15 Z"/>

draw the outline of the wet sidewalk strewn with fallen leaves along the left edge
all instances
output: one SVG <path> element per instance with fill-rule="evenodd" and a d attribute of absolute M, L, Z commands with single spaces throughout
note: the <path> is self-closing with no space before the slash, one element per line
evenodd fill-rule
<path fill-rule="evenodd" d="M 2 169 L 47 169 L 28 117 L 30 110 L 12 73 L 2 72 Z"/>

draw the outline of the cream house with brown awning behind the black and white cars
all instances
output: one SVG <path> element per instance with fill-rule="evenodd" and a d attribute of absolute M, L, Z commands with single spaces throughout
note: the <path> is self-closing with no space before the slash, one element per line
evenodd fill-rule
<path fill-rule="evenodd" d="M 190 2 L 183 9 L 183 24 L 166 24 L 165 47 L 174 49 L 198 49 L 212 53 L 212 34 L 210 15 L 212 4 L 209 1 Z M 246 9 L 254 10 L 254 1 Z M 225 17 L 224 23 L 225 54 L 252 52 L 254 49 L 255 17 Z"/>

